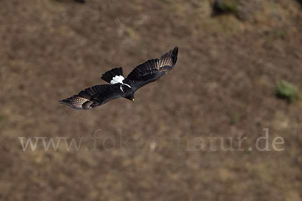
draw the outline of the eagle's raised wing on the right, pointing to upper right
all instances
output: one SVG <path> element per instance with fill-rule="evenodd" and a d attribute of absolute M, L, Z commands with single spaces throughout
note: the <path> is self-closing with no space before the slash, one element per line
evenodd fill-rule
<path fill-rule="evenodd" d="M 136 66 L 123 83 L 129 84 L 134 91 L 147 83 L 158 80 L 174 67 L 177 61 L 178 47 L 164 54 L 160 59 L 152 59 Z"/>

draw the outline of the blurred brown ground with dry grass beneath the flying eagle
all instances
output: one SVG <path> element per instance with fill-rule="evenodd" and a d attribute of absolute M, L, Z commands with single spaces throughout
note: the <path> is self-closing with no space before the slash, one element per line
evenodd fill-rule
<path fill-rule="evenodd" d="M 302 88 L 299 1 L 239 1 L 227 15 L 202 0 L 0 3 L 1 200 L 301 200 L 302 104 L 274 95 L 279 80 Z M 135 104 L 57 102 L 176 45 L 175 68 Z M 284 151 L 247 150 L 264 128 Z M 115 148 L 91 151 L 96 131 Z M 245 151 L 192 149 L 211 133 L 248 137 Z M 24 152 L 18 137 L 85 139 Z"/>

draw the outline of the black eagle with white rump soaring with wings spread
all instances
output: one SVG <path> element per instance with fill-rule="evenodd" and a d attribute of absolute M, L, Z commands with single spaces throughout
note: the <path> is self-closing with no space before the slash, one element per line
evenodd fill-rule
<path fill-rule="evenodd" d="M 77 95 L 59 100 L 59 103 L 77 110 L 89 110 L 102 106 L 119 97 L 127 98 L 134 103 L 134 92 L 170 72 L 175 66 L 177 54 L 178 47 L 176 46 L 160 59 L 150 59 L 136 66 L 126 78 L 124 78 L 122 67 L 113 68 L 101 77 L 109 84 L 86 88 Z"/>

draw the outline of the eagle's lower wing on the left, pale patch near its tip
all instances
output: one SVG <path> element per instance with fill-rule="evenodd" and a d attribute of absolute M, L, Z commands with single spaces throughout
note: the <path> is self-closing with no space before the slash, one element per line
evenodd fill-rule
<path fill-rule="evenodd" d="M 115 98 L 124 97 L 124 92 L 120 90 L 120 86 L 120 83 L 96 85 L 82 90 L 78 95 L 59 100 L 59 103 L 78 110 L 89 110 Z"/>

